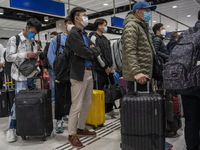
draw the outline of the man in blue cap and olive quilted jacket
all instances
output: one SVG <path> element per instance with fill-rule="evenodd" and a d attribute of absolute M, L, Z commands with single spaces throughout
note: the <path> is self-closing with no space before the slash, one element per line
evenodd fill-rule
<path fill-rule="evenodd" d="M 147 2 L 137 2 L 133 12 L 129 13 L 124 21 L 122 35 L 122 72 L 128 81 L 128 90 L 134 90 L 134 81 L 138 83 L 138 90 L 146 90 L 145 83 L 152 78 L 154 48 L 149 33 L 148 22 L 151 11 L 156 6 Z"/>

